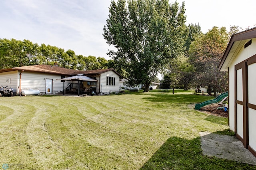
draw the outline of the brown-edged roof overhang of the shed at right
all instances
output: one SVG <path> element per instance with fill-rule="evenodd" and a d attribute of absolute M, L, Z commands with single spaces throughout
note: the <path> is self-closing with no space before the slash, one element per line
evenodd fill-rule
<path fill-rule="evenodd" d="M 252 38 L 256 38 L 256 27 L 250 30 L 245 30 L 243 32 L 233 34 L 230 38 L 226 51 L 224 52 L 224 55 L 220 61 L 218 67 L 219 71 L 228 71 L 228 65 L 230 61 L 235 58 L 234 54 L 240 51 L 240 49 L 246 43 L 246 40 Z"/>

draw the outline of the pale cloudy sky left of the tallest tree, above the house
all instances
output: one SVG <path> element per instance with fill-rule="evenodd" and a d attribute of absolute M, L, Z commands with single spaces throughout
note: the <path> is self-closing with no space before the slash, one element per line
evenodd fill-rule
<path fill-rule="evenodd" d="M 102 33 L 110 1 L 9 0 L 0 7 L 0 38 L 28 39 L 72 49 L 76 54 L 105 57 Z"/>

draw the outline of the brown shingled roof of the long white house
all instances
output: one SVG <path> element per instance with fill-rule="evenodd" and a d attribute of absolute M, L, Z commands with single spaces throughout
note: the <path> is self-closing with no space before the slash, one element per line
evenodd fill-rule
<path fill-rule="evenodd" d="M 2 69 L 0 73 L 8 72 L 8 71 L 30 71 L 30 72 L 39 72 L 39 73 L 52 73 L 58 75 L 76 75 L 82 73 L 84 75 L 97 75 L 107 71 L 114 71 L 117 75 L 122 77 L 119 73 L 117 73 L 114 69 L 98 69 L 98 70 L 88 70 L 88 71 L 80 71 L 80 70 L 73 70 L 73 69 L 66 69 L 63 67 L 58 67 L 54 65 L 29 65 L 23 67 L 13 67 L 10 69 Z"/>

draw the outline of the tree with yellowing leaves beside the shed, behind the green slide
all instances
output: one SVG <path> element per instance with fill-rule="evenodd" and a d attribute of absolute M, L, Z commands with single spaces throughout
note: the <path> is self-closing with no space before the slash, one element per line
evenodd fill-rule
<path fill-rule="evenodd" d="M 219 72 L 218 65 L 228 44 L 228 32 L 225 27 L 213 27 L 206 34 L 196 38 L 190 45 L 190 59 L 196 68 L 195 82 L 208 86 L 208 94 L 214 89 L 223 92 L 228 87 L 226 72 Z"/>

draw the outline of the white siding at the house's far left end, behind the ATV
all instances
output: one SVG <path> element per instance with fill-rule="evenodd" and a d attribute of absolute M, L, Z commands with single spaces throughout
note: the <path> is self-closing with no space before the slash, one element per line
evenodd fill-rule
<path fill-rule="evenodd" d="M 0 73 L 0 85 L 6 87 L 10 86 L 13 88 L 14 93 L 18 93 L 18 71 L 9 71 L 5 73 Z M 10 79 L 10 84 L 6 83 L 6 79 Z"/>

